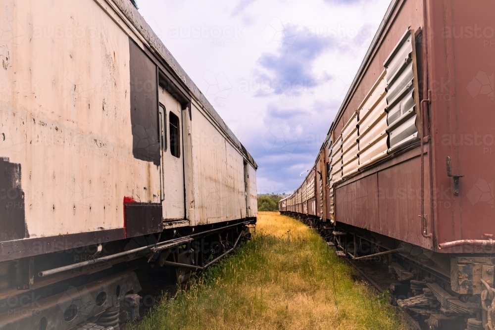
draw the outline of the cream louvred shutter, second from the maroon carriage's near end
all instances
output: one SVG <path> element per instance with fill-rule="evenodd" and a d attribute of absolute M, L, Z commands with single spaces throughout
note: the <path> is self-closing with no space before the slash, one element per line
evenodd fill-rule
<path fill-rule="evenodd" d="M 386 72 L 359 106 L 359 170 L 388 156 Z"/>

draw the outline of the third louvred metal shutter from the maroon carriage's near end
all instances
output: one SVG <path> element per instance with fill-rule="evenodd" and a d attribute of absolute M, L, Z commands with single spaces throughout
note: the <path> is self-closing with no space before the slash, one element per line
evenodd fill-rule
<path fill-rule="evenodd" d="M 357 144 L 357 112 L 354 112 L 347 121 L 346 126 L 342 130 L 342 176 L 347 178 L 354 173 L 357 173 L 359 166 L 359 145 Z"/>

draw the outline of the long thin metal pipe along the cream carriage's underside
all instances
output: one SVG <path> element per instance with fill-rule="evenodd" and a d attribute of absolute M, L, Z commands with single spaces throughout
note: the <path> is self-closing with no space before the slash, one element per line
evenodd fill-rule
<path fill-rule="evenodd" d="M 116 254 L 111 254 L 111 255 L 100 257 L 100 258 L 97 258 L 97 259 L 91 259 L 91 260 L 79 262 L 79 263 L 72 264 L 72 265 L 67 265 L 67 266 L 62 266 L 62 267 L 58 267 L 58 268 L 54 268 L 54 269 L 42 271 L 42 272 L 39 272 L 38 273 L 38 276 L 39 277 L 45 277 L 45 276 L 49 276 L 49 275 L 53 275 L 53 274 L 58 274 L 58 273 L 62 273 L 62 272 L 74 270 L 74 269 L 81 268 L 81 267 L 84 267 L 84 266 L 90 266 L 90 265 L 94 265 L 94 264 L 97 264 L 97 263 L 109 261 L 111 259 L 115 259 L 115 258 L 119 258 L 119 257 L 124 257 L 124 256 L 129 255 L 129 254 L 134 254 L 134 253 L 138 253 L 138 252 L 145 251 L 145 250 L 151 250 L 152 248 L 157 248 L 157 247 L 160 247 L 162 245 L 169 245 L 168 247 L 173 247 L 173 246 L 170 246 L 170 244 L 177 243 L 177 245 L 180 245 L 180 244 L 183 244 L 186 240 L 188 240 L 190 238 L 194 238 L 194 237 L 198 237 L 198 236 L 203 236 L 203 235 L 211 234 L 211 233 L 214 233 L 214 232 L 221 232 L 221 231 L 224 231 L 224 230 L 229 229 L 229 228 L 232 228 L 232 227 L 238 227 L 238 226 L 241 226 L 241 225 L 247 225 L 247 224 L 250 224 L 251 222 L 252 221 L 245 221 L 245 222 L 241 222 L 241 223 L 238 223 L 238 224 L 235 224 L 235 225 L 229 225 L 229 226 L 226 226 L 226 227 L 212 229 L 212 230 L 209 230 L 209 231 L 205 231 L 205 232 L 201 232 L 201 233 L 197 233 L 197 234 L 193 234 L 193 235 L 189 235 L 189 236 L 184 236 L 184 237 L 179 237 L 179 238 L 175 238 L 175 239 L 166 240 L 166 241 L 163 241 L 163 242 L 160 242 L 160 243 L 150 244 L 150 245 L 147 245 L 147 246 L 141 246 L 141 247 L 138 247 L 138 248 L 135 248 L 135 249 L 132 249 L 132 250 L 123 251 L 123 252 L 116 253 Z M 177 245 L 175 245 L 175 246 L 177 246 Z"/>

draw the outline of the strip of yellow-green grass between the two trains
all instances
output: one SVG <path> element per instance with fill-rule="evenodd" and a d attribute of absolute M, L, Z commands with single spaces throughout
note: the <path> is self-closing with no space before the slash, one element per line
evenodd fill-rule
<path fill-rule="evenodd" d="M 261 212 L 252 240 L 156 306 L 137 329 L 406 329 L 356 278 L 316 232 Z"/>

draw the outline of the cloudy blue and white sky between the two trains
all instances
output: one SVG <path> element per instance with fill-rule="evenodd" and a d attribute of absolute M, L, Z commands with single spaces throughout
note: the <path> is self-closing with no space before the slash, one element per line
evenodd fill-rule
<path fill-rule="evenodd" d="M 138 0 L 256 160 L 258 193 L 310 169 L 390 0 Z"/>

